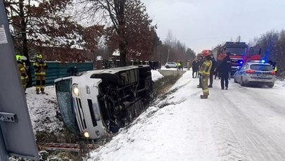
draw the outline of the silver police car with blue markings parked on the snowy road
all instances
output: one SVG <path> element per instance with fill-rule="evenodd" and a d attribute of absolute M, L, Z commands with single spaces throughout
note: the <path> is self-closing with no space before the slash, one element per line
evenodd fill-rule
<path fill-rule="evenodd" d="M 269 63 L 260 61 L 244 63 L 243 66 L 234 73 L 234 82 L 241 86 L 267 85 L 270 88 L 274 86 L 275 72 Z"/>

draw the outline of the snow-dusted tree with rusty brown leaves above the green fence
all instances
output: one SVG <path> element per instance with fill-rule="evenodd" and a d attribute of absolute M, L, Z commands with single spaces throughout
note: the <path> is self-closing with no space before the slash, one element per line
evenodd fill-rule
<path fill-rule="evenodd" d="M 84 28 L 72 21 L 70 15 L 65 13 L 69 4 L 70 0 L 4 0 L 15 51 L 27 57 L 27 66 L 31 66 L 30 56 L 44 49 L 52 48 L 46 54 L 52 54 L 50 57 L 57 60 L 67 60 L 72 56 L 78 60 L 80 54 L 72 48 L 96 48 L 95 38 L 101 36 L 98 31 L 103 28 Z M 65 51 L 58 48 L 64 48 Z M 53 53 L 56 50 L 69 55 L 59 56 Z"/>

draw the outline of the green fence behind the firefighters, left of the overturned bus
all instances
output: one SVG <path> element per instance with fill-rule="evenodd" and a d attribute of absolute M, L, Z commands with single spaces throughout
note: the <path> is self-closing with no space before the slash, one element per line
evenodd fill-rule
<path fill-rule="evenodd" d="M 33 86 L 36 84 L 36 78 L 34 77 L 34 67 L 32 65 L 34 62 L 31 61 L 30 72 L 32 74 L 32 84 Z M 87 70 L 94 70 L 93 62 L 86 63 L 61 63 L 61 62 L 49 62 L 46 64 L 48 68 L 46 69 L 46 86 L 53 85 L 54 80 L 60 77 L 68 77 L 69 74 L 66 72 L 68 67 L 77 67 L 78 72 L 84 72 Z"/>

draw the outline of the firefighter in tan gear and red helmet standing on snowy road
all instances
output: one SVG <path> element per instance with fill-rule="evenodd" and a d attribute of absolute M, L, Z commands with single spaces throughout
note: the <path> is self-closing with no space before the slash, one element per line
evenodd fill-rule
<path fill-rule="evenodd" d="M 203 50 L 202 53 L 203 56 L 205 57 L 205 61 L 199 70 L 199 75 L 202 81 L 202 89 L 203 89 L 203 95 L 201 95 L 200 98 L 205 99 L 208 98 L 209 95 L 208 79 L 210 76 L 210 70 L 212 68 L 212 61 L 208 50 Z"/>

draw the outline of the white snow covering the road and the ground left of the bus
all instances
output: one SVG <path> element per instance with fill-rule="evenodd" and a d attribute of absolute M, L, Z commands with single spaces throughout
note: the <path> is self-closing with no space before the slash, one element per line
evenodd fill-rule
<path fill-rule="evenodd" d="M 153 79 L 160 75 L 152 71 Z M 90 153 L 91 160 L 285 160 L 285 89 L 229 83 L 215 79 L 208 99 L 201 99 L 198 79 L 187 71 L 164 100 L 156 100 L 132 126 Z M 63 124 L 53 107 L 56 95 L 36 95 L 27 103 L 35 130 L 58 130 Z M 46 118 L 46 119 L 45 119 Z"/>

